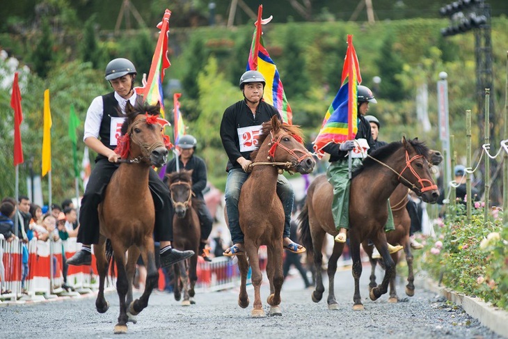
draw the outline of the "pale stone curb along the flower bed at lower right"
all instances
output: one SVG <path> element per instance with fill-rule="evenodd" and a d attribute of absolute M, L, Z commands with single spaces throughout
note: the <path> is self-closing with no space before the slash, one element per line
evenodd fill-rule
<path fill-rule="evenodd" d="M 436 281 L 431 278 L 415 278 L 415 285 L 420 285 L 425 290 L 442 295 L 452 303 L 461 306 L 468 315 L 479 320 L 482 325 L 489 327 L 491 331 L 503 338 L 508 338 L 507 311 L 494 307 L 491 303 L 486 303 L 480 298 L 468 297 L 465 294 L 455 292 L 451 288 L 438 286 Z"/>

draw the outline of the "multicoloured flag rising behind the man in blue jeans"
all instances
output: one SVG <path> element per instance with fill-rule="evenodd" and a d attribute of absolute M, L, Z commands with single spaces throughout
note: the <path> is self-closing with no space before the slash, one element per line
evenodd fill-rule
<path fill-rule="evenodd" d="M 268 51 L 264 48 L 262 38 L 262 26 L 268 24 L 272 17 L 261 19 L 263 6 L 257 9 L 257 21 L 251 44 L 251 52 L 248 55 L 247 70 L 257 70 L 263 74 L 267 84 L 264 86 L 263 99 L 268 104 L 278 109 L 280 117 L 285 123 L 292 124 L 293 113 L 284 93 L 283 83 L 280 81 L 276 64 L 270 58 Z"/>

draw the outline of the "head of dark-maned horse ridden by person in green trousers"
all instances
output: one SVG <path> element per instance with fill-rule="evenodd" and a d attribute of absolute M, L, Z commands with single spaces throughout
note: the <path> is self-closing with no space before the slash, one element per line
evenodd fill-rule
<path fill-rule="evenodd" d="M 439 152 L 429 150 L 418 138 L 407 140 L 404 136 L 402 145 L 406 150 L 406 166 L 399 173 L 399 181 L 421 196 L 425 203 L 436 203 L 439 191 L 430 168 L 431 164 L 439 164 L 443 157 Z"/>

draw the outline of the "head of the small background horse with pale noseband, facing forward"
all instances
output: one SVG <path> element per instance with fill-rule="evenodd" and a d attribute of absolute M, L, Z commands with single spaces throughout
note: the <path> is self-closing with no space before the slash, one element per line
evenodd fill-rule
<path fill-rule="evenodd" d="M 192 205 L 192 171 L 180 170 L 166 174 L 171 202 L 178 218 L 183 218 Z"/>

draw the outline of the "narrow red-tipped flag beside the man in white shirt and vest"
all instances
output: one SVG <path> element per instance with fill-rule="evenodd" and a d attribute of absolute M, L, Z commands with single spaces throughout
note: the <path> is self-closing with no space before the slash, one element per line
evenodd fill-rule
<path fill-rule="evenodd" d="M 155 52 L 152 56 L 152 65 L 150 65 L 150 72 L 148 72 L 148 80 L 143 87 L 136 88 L 138 94 L 143 94 L 145 102 L 148 104 L 161 104 L 161 116 L 164 118 L 164 97 L 162 90 L 162 81 L 164 80 L 164 72 L 171 63 L 168 58 L 168 33 L 169 33 L 169 17 L 171 11 L 166 9 L 162 22 L 159 22 L 157 28 L 159 32 L 159 39 L 155 46 Z"/>

